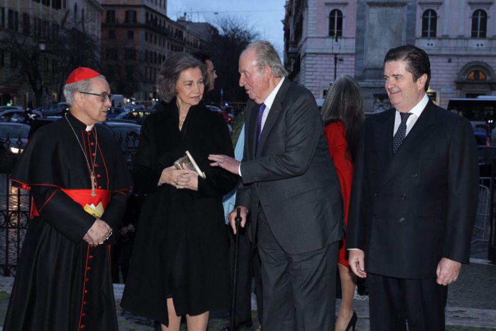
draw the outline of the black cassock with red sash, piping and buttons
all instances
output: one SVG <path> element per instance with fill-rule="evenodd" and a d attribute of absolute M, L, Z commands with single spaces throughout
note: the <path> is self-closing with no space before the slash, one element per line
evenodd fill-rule
<path fill-rule="evenodd" d="M 83 205 L 101 202 L 101 219 L 117 232 L 132 181 L 114 138 L 95 127 L 86 131 L 69 114 L 67 119 L 89 163 L 95 163 L 96 197 L 91 197 L 90 169 L 67 120 L 40 128 L 11 176 L 14 186 L 31 190 L 32 207 L 4 331 L 118 330 L 110 245 L 82 240 L 95 221 Z"/>

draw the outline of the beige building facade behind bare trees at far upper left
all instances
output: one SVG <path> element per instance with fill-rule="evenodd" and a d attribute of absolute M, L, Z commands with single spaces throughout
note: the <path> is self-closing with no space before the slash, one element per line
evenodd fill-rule
<path fill-rule="evenodd" d="M 50 52 L 50 41 L 54 40 L 61 28 L 84 30 L 100 41 L 100 16 L 103 13 L 99 0 L 5 0 L 0 2 L 0 105 L 12 102 L 26 106 L 32 103 L 34 93 L 28 78 L 20 73 L 21 64 L 14 52 L 9 51 L 7 41 L 17 38 L 25 50 L 35 50 L 40 43 L 47 46 L 38 58 L 37 85 L 42 85 L 44 103 L 60 98 L 60 85 L 52 75 L 57 72 L 60 59 Z M 41 49 L 38 49 L 41 51 Z M 41 72 L 41 74 L 40 74 Z M 38 106 L 34 101 L 33 106 Z"/>

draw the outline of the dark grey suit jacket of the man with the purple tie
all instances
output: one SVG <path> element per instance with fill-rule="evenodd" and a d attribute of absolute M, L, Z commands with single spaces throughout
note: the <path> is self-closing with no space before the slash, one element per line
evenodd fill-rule
<path fill-rule="evenodd" d="M 274 237 L 289 254 L 340 240 L 341 189 L 313 95 L 285 79 L 255 152 L 259 106 L 250 101 L 247 107 L 243 186 L 236 198 L 237 205 L 251 209 L 252 235 L 261 204 Z"/>

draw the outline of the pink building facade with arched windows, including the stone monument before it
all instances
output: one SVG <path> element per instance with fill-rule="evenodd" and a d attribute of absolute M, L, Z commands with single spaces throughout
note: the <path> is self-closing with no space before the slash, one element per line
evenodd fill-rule
<path fill-rule="evenodd" d="M 315 98 L 335 71 L 355 77 L 372 112 L 389 107 L 385 53 L 412 44 L 429 54 L 429 95 L 446 107 L 454 97 L 496 95 L 495 18 L 492 0 L 288 0 L 284 62 Z"/>

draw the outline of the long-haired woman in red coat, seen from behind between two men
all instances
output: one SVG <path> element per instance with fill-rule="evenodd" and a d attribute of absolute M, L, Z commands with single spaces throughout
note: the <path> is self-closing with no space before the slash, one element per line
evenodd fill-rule
<path fill-rule="evenodd" d="M 341 184 L 344 220 L 347 222 L 353 161 L 364 118 L 362 90 L 358 83 L 350 76 L 338 78 L 327 91 L 321 113 L 326 124 L 329 153 Z M 336 320 L 336 331 L 348 330 L 351 327 L 354 330 L 357 322 L 357 314 L 351 309 L 357 278 L 349 269 L 344 248 L 345 238 L 339 245 L 338 270 L 341 278 L 342 301 Z"/>

